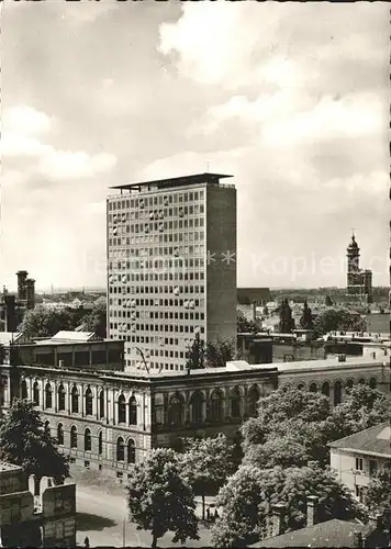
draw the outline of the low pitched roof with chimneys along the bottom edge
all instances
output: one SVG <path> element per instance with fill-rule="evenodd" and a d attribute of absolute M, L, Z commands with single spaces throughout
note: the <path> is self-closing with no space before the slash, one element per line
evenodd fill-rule
<path fill-rule="evenodd" d="M 364 538 L 368 533 L 368 526 L 333 518 L 282 536 L 264 539 L 252 547 L 356 547 L 355 531 L 361 533 Z"/>

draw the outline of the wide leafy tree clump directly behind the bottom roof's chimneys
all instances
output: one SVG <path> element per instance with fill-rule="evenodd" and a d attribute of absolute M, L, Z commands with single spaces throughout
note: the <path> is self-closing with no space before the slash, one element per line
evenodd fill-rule
<path fill-rule="evenodd" d="M 212 530 L 214 547 L 243 547 L 265 536 L 273 505 L 286 505 L 284 529 L 306 523 L 306 497 L 319 497 L 320 522 L 329 518 L 366 519 L 365 508 L 334 473 L 310 462 L 305 467 L 259 469 L 242 466 L 220 491 L 217 505 L 223 517 Z"/>

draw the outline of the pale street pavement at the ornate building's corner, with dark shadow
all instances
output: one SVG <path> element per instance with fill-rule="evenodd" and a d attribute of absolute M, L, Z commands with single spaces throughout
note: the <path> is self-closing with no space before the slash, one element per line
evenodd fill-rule
<path fill-rule="evenodd" d="M 150 547 L 150 533 L 137 530 L 127 520 L 125 493 L 105 493 L 94 486 L 77 485 L 77 544 L 83 546 L 86 536 L 90 547 Z M 186 547 L 208 547 L 210 531 L 204 526 L 199 528 L 200 540 L 188 540 Z M 158 540 L 159 547 L 175 547 L 172 534 L 166 534 Z M 177 544 L 177 547 L 182 547 Z"/>

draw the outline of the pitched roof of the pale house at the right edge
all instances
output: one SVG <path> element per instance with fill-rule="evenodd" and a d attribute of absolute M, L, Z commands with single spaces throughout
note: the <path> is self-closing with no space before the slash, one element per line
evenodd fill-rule
<path fill-rule="evenodd" d="M 368 453 L 381 453 L 391 457 L 391 427 L 389 422 L 360 430 L 355 435 L 329 442 L 331 448 L 342 450 L 360 450 Z"/>

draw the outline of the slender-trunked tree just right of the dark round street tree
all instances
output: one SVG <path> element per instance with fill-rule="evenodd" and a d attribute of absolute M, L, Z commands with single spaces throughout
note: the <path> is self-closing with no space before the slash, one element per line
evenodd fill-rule
<path fill-rule="evenodd" d="M 224 435 L 215 438 L 183 438 L 186 452 L 181 470 L 194 494 L 202 496 L 202 519 L 205 518 L 205 495 L 215 494 L 234 472 L 233 447 Z"/>

